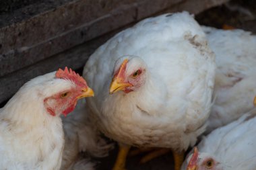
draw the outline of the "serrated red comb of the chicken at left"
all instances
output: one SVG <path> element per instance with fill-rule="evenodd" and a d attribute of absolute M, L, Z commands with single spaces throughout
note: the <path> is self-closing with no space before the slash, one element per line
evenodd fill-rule
<path fill-rule="evenodd" d="M 72 71 L 72 69 L 67 69 L 67 67 L 65 67 L 64 71 L 62 69 L 59 69 L 55 73 L 55 77 L 59 79 L 71 80 L 76 85 L 79 85 L 81 87 L 87 86 L 87 83 L 83 77 L 79 76 L 79 74 L 75 73 L 75 71 Z"/>

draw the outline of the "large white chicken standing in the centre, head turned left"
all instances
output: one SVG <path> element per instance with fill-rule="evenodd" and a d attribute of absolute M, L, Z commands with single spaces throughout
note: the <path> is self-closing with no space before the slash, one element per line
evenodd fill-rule
<path fill-rule="evenodd" d="M 205 130 L 214 75 L 214 53 L 187 12 L 144 19 L 100 46 L 83 76 L 98 128 L 121 146 L 114 169 L 131 145 L 172 148 L 179 169 L 178 155 Z"/>

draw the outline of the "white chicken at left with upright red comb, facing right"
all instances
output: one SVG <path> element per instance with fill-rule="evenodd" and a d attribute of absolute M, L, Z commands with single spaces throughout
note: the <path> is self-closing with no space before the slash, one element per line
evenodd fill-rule
<path fill-rule="evenodd" d="M 94 95 L 67 67 L 23 85 L 0 110 L 0 169 L 59 169 L 64 136 L 61 114 Z"/>

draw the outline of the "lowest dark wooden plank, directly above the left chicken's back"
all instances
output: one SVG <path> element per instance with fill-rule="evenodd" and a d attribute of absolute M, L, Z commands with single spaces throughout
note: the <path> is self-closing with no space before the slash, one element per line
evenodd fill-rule
<path fill-rule="evenodd" d="M 88 60 L 90 54 L 92 54 L 100 44 L 106 42 L 106 40 L 111 36 L 113 36 L 113 33 L 97 38 L 96 40 L 86 42 L 80 46 L 72 48 L 71 50 L 67 50 L 66 52 L 37 62 L 30 67 L 26 67 L 20 71 L 1 77 L 0 103 L 9 99 L 13 93 L 18 91 L 18 89 L 24 85 L 24 83 L 38 75 L 44 75 L 45 73 L 56 71 L 57 69 L 64 68 L 65 66 L 71 67 L 72 69 L 84 67 L 84 64 L 86 63 L 86 60 Z"/>

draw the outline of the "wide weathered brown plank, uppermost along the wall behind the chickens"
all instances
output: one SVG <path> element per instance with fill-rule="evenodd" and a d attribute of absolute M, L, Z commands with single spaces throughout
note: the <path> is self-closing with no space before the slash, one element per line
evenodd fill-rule
<path fill-rule="evenodd" d="M 181 0 L 73 0 L 0 29 L 0 77 L 82 44 Z"/>

